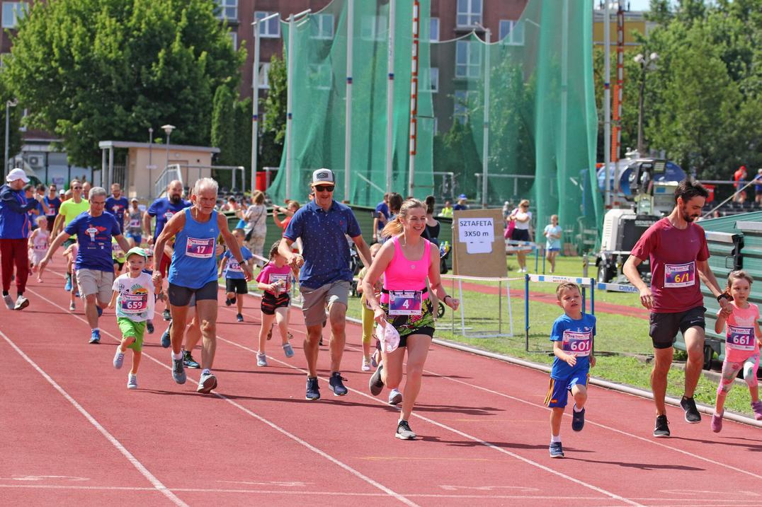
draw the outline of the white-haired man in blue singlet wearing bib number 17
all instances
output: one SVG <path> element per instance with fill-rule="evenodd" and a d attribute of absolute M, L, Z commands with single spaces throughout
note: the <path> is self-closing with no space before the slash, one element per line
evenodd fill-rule
<path fill-rule="evenodd" d="M 196 295 L 196 312 L 201 322 L 201 379 L 197 392 L 209 393 L 217 387 L 210 368 L 216 351 L 217 324 L 217 260 L 215 246 L 219 234 L 241 263 L 246 281 L 253 276 L 241 256 L 238 241 L 228 230 L 225 215 L 216 212 L 217 182 L 211 178 L 197 180 L 191 191 L 193 206 L 173 215 L 155 242 L 155 251 L 164 250 L 166 242 L 175 237 L 174 253 L 169 268 L 169 304 L 172 321 L 185 322 L 191 296 Z M 162 272 L 153 272 L 154 283 L 162 282 Z M 182 343 L 184 326 L 175 326 L 171 333 L 172 378 L 178 384 L 186 380 L 183 367 Z"/>

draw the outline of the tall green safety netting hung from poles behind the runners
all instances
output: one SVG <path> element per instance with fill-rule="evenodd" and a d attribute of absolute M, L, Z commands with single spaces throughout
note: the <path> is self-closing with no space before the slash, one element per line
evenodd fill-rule
<path fill-rule="evenodd" d="M 335 0 L 296 21 L 291 51 L 289 24 L 281 24 L 286 57 L 293 56 L 292 195 L 285 195 L 284 150 L 268 190 L 275 199 L 305 199 L 309 177 L 320 167 L 336 172 L 338 200 L 375 206 L 387 190 L 410 195 L 413 12 L 412 2 L 398 0 L 395 5 L 392 187 L 386 188 L 389 3 L 354 0 L 347 196 L 347 0 Z M 597 132 L 591 0 L 530 0 L 520 20 L 503 28 L 503 39 L 493 34 L 490 44 L 484 42 L 484 33 L 430 42 L 429 7 L 428 0 L 421 2 L 413 194 L 433 194 L 443 203 L 464 193 L 472 208 L 484 203 L 501 207 L 504 201 L 515 204 L 527 198 L 536 210 L 539 231 L 552 214 L 575 234 L 596 228 L 603 202 L 595 173 L 589 171 L 595 167 Z M 482 196 L 485 132 L 488 190 Z"/>

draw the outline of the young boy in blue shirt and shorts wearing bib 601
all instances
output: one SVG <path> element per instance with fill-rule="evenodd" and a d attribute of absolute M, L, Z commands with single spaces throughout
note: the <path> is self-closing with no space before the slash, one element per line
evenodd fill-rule
<path fill-rule="evenodd" d="M 593 336 L 595 317 L 582 313 L 579 285 L 562 282 L 555 289 L 558 305 L 564 314 L 555 319 L 550 340 L 553 342 L 553 366 L 545 404 L 550 412 L 550 457 L 563 458 L 561 445 L 561 419 L 564 415 L 568 391 L 574 397 L 571 411 L 571 429 L 581 431 L 584 426 L 584 403 L 588 400 L 590 368 L 595 366 Z"/>

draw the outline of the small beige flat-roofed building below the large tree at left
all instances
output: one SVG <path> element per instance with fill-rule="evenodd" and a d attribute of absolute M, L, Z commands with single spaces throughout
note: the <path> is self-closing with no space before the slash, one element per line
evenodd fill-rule
<path fill-rule="evenodd" d="M 219 148 L 210 146 L 160 145 L 148 142 L 101 141 L 101 171 L 94 171 L 93 180 L 108 191 L 111 183 L 119 183 L 124 195 L 138 199 L 155 199 L 161 195 L 155 186 L 166 167 L 178 164 L 185 187 L 202 177 L 212 177 L 212 156 Z M 114 149 L 127 150 L 125 161 L 114 161 Z M 165 185 L 163 185 L 165 187 Z"/>

